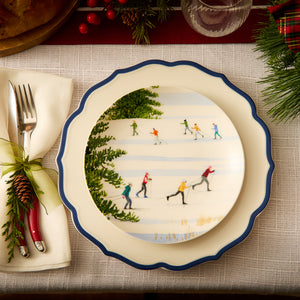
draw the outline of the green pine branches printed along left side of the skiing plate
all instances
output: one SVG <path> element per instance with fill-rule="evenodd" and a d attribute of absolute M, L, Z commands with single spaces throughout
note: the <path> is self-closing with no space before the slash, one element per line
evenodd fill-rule
<path fill-rule="evenodd" d="M 153 86 L 152 89 L 157 88 Z M 139 89 L 117 100 L 99 118 L 89 137 L 85 155 L 86 180 L 91 196 L 99 210 L 108 218 L 113 216 L 121 221 L 138 222 L 139 218 L 134 213 L 125 213 L 111 201 L 107 200 L 107 193 L 103 183 L 109 183 L 115 188 L 120 188 L 124 182 L 114 170 L 113 160 L 126 154 L 126 151 L 114 150 L 108 146 L 113 136 L 105 135 L 109 128 L 108 120 L 131 118 L 157 119 L 163 113 L 155 107 L 161 103 L 155 98 L 158 94 L 149 89 Z"/>

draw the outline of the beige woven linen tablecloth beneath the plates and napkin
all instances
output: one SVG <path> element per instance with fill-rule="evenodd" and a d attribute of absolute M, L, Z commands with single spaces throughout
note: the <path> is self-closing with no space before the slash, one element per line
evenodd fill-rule
<path fill-rule="evenodd" d="M 300 294 L 300 119 L 275 125 L 257 81 L 265 66 L 253 44 L 37 46 L 0 58 L 0 67 L 37 70 L 74 79 L 71 111 L 84 92 L 115 69 L 148 59 L 191 60 L 227 78 L 255 102 L 272 138 L 271 197 L 249 236 L 216 261 L 184 271 L 139 270 L 104 255 L 81 236 L 68 212 L 72 264 L 36 273 L 0 273 L 0 293 L 24 292 L 246 292 Z M 59 140 L 44 159 L 56 168 Z"/>

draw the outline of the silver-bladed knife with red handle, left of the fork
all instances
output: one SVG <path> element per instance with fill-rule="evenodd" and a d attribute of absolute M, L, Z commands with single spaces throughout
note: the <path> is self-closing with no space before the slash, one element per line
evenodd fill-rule
<path fill-rule="evenodd" d="M 19 144 L 20 141 L 20 133 L 19 133 L 19 113 L 18 113 L 18 105 L 16 101 L 16 95 L 13 88 L 12 83 L 9 81 L 8 84 L 9 91 L 9 113 L 8 113 L 8 132 L 10 141 Z M 24 212 L 20 211 L 20 220 L 24 223 Z M 25 231 L 23 227 L 18 227 L 18 230 L 22 233 L 23 239 L 18 238 L 19 241 L 19 251 L 22 256 L 29 257 L 29 251 L 25 240 Z"/>

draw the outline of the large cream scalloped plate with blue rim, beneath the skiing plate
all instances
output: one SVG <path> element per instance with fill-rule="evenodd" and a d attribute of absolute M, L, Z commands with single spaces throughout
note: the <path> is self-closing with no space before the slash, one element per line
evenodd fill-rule
<path fill-rule="evenodd" d="M 232 185 L 235 196 L 231 196 L 232 203 L 224 218 L 220 219 L 222 221 L 206 230 L 205 234 L 193 236 L 181 243 L 178 240 L 173 243 L 149 242 L 143 236 L 136 238 L 134 234 L 131 235 L 132 229 L 116 226 L 99 212 L 85 180 L 85 149 L 90 132 L 101 113 L 122 96 L 156 85 L 184 89 L 212 100 L 229 118 L 232 128 L 236 128 L 236 136 L 240 141 L 236 149 L 243 157 L 239 164 L 242 166 L 241 176 L 237 184 Z M 234 157 L 236 154 L 230 156 L 230 159 Z M 156 60 L 117 70 L 85 93 L 78 109 L 69 117 L 63 129 L 57 164 L 59 192 L 72 212 L 79 232 L 105 254 L 134 267 L 164 267 L 171 270 L 182 270 L 217 259 L 242 241 L 249 234 L 255 217 L 268 202 L 274 168 L 269 131 L 257 117 L 254 103 L 248 95 L 230 83 L 224 75 L 194 62 L 169 63 Z M 136 201 L 138 199 L 133 202 Z"/>

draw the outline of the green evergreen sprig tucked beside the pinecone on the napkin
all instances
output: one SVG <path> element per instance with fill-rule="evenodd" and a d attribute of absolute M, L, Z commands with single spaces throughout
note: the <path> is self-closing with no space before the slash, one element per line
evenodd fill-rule
<path fill-rule="evenodd" d="M 13 180 L 18 174 L 20 174 L 20 172 L 15 172 L 7 181 L 8 199 L 6 202 L 6 206 L 9 207 L 7 213 L 9 219 L 1 227 L 3 229 L 2 235 L 5 236 L 5 241 L 8 241 L 8 262 L 10 262 L 14 258 L 14 249 L 17 246 L 20 246 L 20 239 L 22 240 L 25 238 L 20 230 L 21 228 L 25 230 L 25 224 L 21 218 L 21 210 L 23 212 L 27 212 L 28 208 L 31 207 L 30 203 L 24 204 L 23 202 L 21 202 L 15 193 Z"/>

